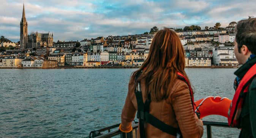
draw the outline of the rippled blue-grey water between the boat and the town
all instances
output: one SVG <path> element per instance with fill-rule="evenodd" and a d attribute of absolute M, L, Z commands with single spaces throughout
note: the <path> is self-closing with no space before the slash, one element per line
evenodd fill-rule
<path fill-rule="evenodd" d="M 120 123 L 128 81 L 135 70 L 1 69 L 0 138 L 84 138 L 91 130 Z M 195 100 L 232 99 L 235 70 L 186 69 Z M 203 120 L 227 122 L 222 116 Z M 239 135 L 238 129 L 212 127 L 212 132 L 213 137 Z"/>

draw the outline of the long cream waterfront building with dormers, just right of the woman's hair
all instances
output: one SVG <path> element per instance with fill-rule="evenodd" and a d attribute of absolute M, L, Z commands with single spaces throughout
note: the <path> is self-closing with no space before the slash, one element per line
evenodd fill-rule
<path fill-rule="evenodd" d="M 188 66 L 211 66 L 210 57 L 193 57 L 188 58 Z"/>

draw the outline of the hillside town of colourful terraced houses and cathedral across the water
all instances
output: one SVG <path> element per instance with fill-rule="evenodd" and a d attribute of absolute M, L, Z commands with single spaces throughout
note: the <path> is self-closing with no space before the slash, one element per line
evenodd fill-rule
<path fill-rule="evenodd" d="M 144 34 L 54 42 L 54 34 L 50 31 L 32 31 L 28 34 L 24 6 L 20 28 L 19 43 L 1 36 L 0 67 L 139 67 L 149 56 L 152 39 L 158 31 L 155 26 L 149 33 Z M 180 37 L 185 49 L 186 66 L 232 67 L 238 66 L 234 55 L 234 28 L 235 23 L 231 22 L 226 28 L 220 28 L 220 23 L 216 23 L 214 27 L 205 27 L 202 30 L 194 25 L 184 29 L 169 29 Z"/>

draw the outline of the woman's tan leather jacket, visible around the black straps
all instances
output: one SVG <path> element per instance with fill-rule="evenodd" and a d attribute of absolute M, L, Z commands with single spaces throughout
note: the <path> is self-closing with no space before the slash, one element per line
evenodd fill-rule
<path fill-rule="evenodd" d="M 188 85 L 182 80 L 176 79 L 172 88 L 169 89 L 171 93 L 168 99 L 161 102 L 152 101 L 150 103 L 150 114 L 165 124 L 175 128 L 179 127 L 183 138 L 201 138 L 204 128 L 202 121 L 198 119 L 193 111 Z M 141 90 L 143 102 L 145 102 L 145 81 L 141 82 Z M 125 105 L 122 110 L 120 130 L 131 130 L 131 123 L 134 120 L 136 111 L 137 100 L 134 93 L 134 85 L 129 85 Z M 169 135 L 148 123 L 145 125 L 145 129 L 147 138 L 175 138 L 175 136 Z M 137 138 L 139 137 L 138 129 Z"/>

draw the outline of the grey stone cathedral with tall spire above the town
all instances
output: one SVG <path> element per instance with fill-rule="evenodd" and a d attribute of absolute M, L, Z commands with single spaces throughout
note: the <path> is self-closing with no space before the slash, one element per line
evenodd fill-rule
<path fill-rule="evenodd" d="M 48 46 L 52 47 L 53 42 L 53 34 L 48 33 L 38 33 L 37 31 L 34 33 L 30 33 L 28 35 L 28 23 L 25 17 L 25 8 L 23 4 L 23 12 L 21 18 L 21 37 L 20 37 L 20 45 L 21 49 L 32 49 L 34 47 L 43 47 Z"/>

